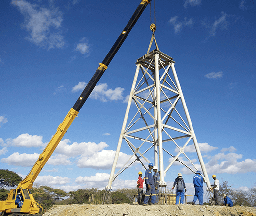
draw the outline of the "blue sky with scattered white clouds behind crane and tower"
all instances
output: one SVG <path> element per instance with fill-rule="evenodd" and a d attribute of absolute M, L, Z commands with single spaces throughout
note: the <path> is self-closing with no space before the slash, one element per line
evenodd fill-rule
<path fill-rule="evenodd" d="M 1 2 L 1 169 L 28 174 L 139 2 Z M 253 0 L 156 0 L 156 40 L 176 61 L 209 178 L 245 190 L 256 186 L 255 7 Z M 36 183 L 66 191 L 107 185 L 149 26 L 148 6 Z M 120 161 L 130 154 L 121 148 Z M 140 170 L 132 166 L 113 188 L 135 187 Z M 193 194 L 193 173 L 183 166 L 168 171 L 167 187 L 178 172 Z"/>

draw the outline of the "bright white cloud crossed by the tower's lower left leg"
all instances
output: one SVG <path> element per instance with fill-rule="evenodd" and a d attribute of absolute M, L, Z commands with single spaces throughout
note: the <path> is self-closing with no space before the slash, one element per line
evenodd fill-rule
<path fill-rule="evenodd" d="M 96 152 L 90 157 L 81 156 L 77 162 L 79 168 L 93 168 L 93 169 L 110 169 L 112 167 L 116 151 L 102 150 Z M 124 162 L 127 162 L 130 155 L 123 152 L 119 153 L 117 168 L 121 168 Z M 122 164 L 120 163 L 122 162 Z"/>

